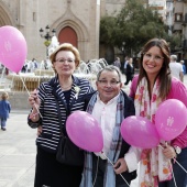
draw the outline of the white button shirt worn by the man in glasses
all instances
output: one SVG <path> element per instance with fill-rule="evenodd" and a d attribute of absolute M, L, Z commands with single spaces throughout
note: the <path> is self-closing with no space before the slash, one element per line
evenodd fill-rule
<path fill-rule="evenodd" d="M 117 114 L 117 101 L 118 97 L 111 99 L 107 105 L 103 103 L 99 96 L 97 96 L 97 101 L 92 110 L 92 117 L 101 125 L 103 134 L 103 153 L 107 155 L 110 151 L 110 145 L 112 142 L 113 128 L 116 125 L 116 114 Z M 97 156 L 100 156 L 102 160 L 106 160 L 106 156 L 101 153 L 95 153 Z"/>

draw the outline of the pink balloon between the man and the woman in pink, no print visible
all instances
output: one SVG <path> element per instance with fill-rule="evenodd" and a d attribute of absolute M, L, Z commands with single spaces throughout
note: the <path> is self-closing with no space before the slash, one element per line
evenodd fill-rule
<path fill-rule="evenodd" d="M 152 148 L 160 143 L 155 125 L 143 117 L 125 118 L 121 124 L 121 135 L 130 145 L 141 148 Z"/>

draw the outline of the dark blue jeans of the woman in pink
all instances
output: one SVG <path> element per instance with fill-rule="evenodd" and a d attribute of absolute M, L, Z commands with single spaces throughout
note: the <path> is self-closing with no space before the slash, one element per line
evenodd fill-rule
<path fill-rule="evenodd" d="M 177 155 L 177 162 L 187 170 L 187 147 Z M 173 170 L 177 187 L 187 187 L 186 172 L 177 163 L 173 164 Z M 158 187 L 175 187 L 174 179 L 160 183 Z"/>

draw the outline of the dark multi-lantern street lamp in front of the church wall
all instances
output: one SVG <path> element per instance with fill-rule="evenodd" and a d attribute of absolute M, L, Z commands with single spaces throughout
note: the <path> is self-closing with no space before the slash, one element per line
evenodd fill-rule
<path fill-rule="evenodd" d="M 44 42 L 44 45 L 46 46 L 46 56 L 48 57 L 48 46 L 51 44 L 51 41 L 52 41 L 52 37 L 55 35 L 56 33 L 56 30 L 53 29 L 52 30 L 52 33 L 51 33 L 51 29 L 48 25 L 45 26 L 45 34 L 44 34 L 44 30 L 41 28 L 40 29 L 40 34 L 41 34 L 41 37 L 45 38 L 46 41 Z"/>

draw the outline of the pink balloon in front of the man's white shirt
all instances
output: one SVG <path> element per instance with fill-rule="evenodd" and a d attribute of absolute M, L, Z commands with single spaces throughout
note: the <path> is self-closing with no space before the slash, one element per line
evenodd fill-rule
<path fill-rule="evenodd" d="M 101 152 L 103 148 L 102 131 L 94 117 L 84 111 L 73 112 L 66 121 L 69 139 L 80 148 Z"/>

